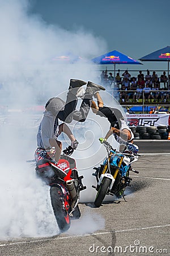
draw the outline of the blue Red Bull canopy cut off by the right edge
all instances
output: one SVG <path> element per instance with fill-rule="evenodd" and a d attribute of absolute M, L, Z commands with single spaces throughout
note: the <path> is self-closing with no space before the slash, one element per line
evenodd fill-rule
<path fill-rule="evenodd" d="M 141 61 L 167 61 L 168 62 L 168 78 L 169 78 L 169 61 L 170 61 L 170 46 L 159 49 L 139 59 Z M 168 79 L 169 86 L 169 79 Z"/>

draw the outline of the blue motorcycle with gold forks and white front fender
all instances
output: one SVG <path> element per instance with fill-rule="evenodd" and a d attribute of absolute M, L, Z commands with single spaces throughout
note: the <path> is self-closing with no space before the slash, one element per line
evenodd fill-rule
<path fill-rule="evenodd" d="M 102 143 L 107 150 L 107 158 L 104 159 L 100 167 L 94 167 L 96 172 L 92 174 L 97 180 L 97 185 L 92 185 L 92 188 L 97 191 L 94 202 L 96 207 L 101 206 L 106 195 L 124 197 L 125 188 L 130 186 L 130 181 L 132 180 L 129 177 L 129 172 L 139 173 L 131 167 L 131 163 L 138 160 L 138 154 L 134 154 L 129 150 L 119 152 L 114 150 L 107 141 Z"/>

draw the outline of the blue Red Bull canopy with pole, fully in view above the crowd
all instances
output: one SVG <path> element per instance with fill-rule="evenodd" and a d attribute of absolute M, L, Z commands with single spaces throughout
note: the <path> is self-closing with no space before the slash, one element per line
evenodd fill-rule
<path fill-rule="evenodd" d="M 114 64 L 114 84 L 115 84 L 116 64 L 141 64 L 141 65 L 143 65 L 139 61 L 134 60 L 131 57 L 128 57 L 118 51 L 112 51 L 112 52 L 105 53 L 99 57 L 92 59 L 91 61 L 96 64 L 101 64 L 101 65 Z"/>

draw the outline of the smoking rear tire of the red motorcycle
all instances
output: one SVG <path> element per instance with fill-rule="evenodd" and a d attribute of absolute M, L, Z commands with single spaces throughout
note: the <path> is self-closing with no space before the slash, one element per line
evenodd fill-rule
<path fill-rule="evenodd" d="M 59 187 L 50 187 L 50 198 L 59 229 L 65 232 L 70 228 L 70 216 L 65 209 L 61 200 L 62 191 Z"/>

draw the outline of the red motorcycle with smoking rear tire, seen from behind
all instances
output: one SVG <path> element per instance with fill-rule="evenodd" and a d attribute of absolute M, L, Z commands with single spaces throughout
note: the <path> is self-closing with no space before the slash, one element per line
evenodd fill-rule
<path fill-rule="evenodd" d="M 36 164 L 36 174 L 50 186 L 50 199 L 61 232 L 70 228 L 70 219 L 80 218 L 78 206 L 79 193 L 86 189 L 82 184 L 83 176 L 78 175 L 76 163 L 70 155 L 71 146 L 63 150 L 58 163 L 42 159 Z"/>

